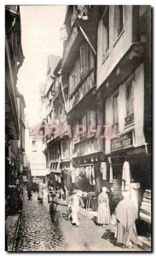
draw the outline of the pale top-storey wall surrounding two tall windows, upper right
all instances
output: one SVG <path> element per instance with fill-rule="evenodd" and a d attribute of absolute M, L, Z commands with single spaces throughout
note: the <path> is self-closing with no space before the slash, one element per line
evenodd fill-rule
<path fill-rule="evenodd" d="M 132 44 L 132 6 L 124 5 L 124 29 L 114 40 L 114 5 L 109 6 L 109 49 L 102 61 L 102 19 L 97 32 L 97 88 L 107 79 Z M 103 64 L 102 64 L 103 62 Z"/>

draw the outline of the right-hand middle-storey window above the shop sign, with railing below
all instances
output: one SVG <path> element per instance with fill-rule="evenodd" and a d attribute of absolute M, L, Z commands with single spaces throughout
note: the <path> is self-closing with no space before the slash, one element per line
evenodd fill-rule
<path fill-rule="evenodd" d="M 134 113 L 134 79 L 126 84 L 126 115 Z"/>

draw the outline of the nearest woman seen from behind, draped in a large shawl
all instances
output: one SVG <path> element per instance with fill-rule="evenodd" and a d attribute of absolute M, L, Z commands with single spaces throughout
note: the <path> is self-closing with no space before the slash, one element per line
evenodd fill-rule
<path fill-rule="evenodd" d="M 123 191 L 124 199 L 119 201 L 115 209 L 117 224 L 117 245 L 122 247 L 132 247 L 132 243 L 137 244 L 136 218 L 137 209 L 132 201 L 130 201 L 130 192 Z"/>

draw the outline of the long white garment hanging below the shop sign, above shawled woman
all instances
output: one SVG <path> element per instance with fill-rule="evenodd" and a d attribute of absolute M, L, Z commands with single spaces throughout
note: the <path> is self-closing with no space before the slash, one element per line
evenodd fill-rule
<path fill-rule="evenodd" d="M 124 182 L 122 183 L 122 189 L 129 190 L 130 189 L 130 164 L 128 161 L 124 161 L 122 179 L 124 180 Z"/>

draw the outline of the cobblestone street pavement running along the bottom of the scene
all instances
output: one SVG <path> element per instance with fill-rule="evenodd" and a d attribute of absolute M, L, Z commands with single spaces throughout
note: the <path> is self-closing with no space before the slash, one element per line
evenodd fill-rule
<path fill-rule="evenodd" d="M 81 212 L 80 226 L 72 226 L 65 218 L 53 223 L 49 217 L 47 191 L 44 190 L 43 204 L 33 194 L 28 201 L 25 196 L 19 233 L 14 251 L 127 251 L 113 246 L 113 235 Z M 139 247 L 129 251 L 142 251 Z"/>

